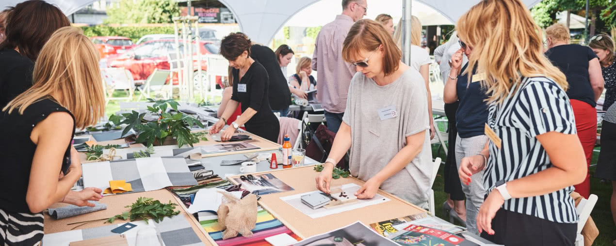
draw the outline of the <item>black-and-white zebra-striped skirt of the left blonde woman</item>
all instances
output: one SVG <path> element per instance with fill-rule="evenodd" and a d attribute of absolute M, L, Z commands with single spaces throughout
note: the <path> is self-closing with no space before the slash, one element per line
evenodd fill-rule
<path fill-rule="evenodd" d="M 40 245 L 43 213 L 10 213 L 0 208 L 0 245 Z"/>

